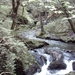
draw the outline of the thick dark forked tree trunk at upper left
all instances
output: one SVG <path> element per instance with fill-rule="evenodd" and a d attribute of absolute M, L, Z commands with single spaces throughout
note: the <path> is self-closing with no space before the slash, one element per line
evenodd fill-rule
<path fill-rule="evenodd" d="M 13 30 L 16 27 L 16 18 L 17 18 L 17 11 L 20 5 L 20 0 L 12 0 L 12 26 L 11 29 Z"/>

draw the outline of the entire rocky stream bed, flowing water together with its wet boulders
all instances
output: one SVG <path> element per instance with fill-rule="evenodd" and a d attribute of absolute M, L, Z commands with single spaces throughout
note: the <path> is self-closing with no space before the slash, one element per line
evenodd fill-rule
<path fill-rule="evenodd" d="M 22 33 L 22 37 L 45 42 L 38 47 L 35 46 L 35 42 L 33 42 L 33 46 L 29 44 L 31 48 L 33 47 L 30 53 L 35 57 L 37 65 L 30 67 L 26 72 L 27 75 L 67 75 L 69 72 L 74 73 L 75 44 L 36 38 L 35 33 L 35 30 Z"/>

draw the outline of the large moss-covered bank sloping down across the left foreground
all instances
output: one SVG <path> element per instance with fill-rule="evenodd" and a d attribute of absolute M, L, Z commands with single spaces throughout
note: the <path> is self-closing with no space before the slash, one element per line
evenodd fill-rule
<path fill-rule="evenodd" d="M 5 71 L 14 72 L 15 59 L 19 59 L 22 62 L 24 70 L 36 63 L 25 44 L 21 40 L 16 39 L 14 35 L 11 34 L 10 29 L 7 29 L 4 25 L 1 26 L 0 35 L 0 52 L 6 56 L 6 60 L 1 60 L 1 63 L 4 62 L 0 66 L 5 66 Z M 2 72 L 3 70 L 0 71 Z"/>

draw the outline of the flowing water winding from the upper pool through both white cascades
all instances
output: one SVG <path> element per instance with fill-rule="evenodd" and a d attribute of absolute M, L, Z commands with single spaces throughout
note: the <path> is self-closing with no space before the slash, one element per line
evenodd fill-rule
<path fill-rule="evenodd" d="M 63 54 L 64 54 L 63 61 L 67 65 L 66 69 L 54 70 L 54 71 L 48 70 L 47 68 L 48 68 L 49 64 L 51 63 L 51 61 L 50 61 L 51 57 L 50 57 L 50 55 L 44 53 L 44 49 L 52 48 L 52 49 L 61 50 L 61 51 L 63 51 L 63 50 L 75 50 L 74 44 L 67 44 L 67 43 L 63 43 L 60 41 L 45 40 L 45 39 L 36 38 L 35 37 L 35 31 L 23 33 L 22 36 L 25 36 L 29 39 L 43 40 L 43 41 L 49 43 L 49 46 L 47 46 L 47 47 L 36 49 L 37 53 L 39 55 L 42 55 L 47 59 L 47 63 L 44 63 L 44 65 L 41 67 L 41 72 L 36 72 L 34 75 L 65 75 L 65 74 L 73 71 L 72 63 L 75 61 L 75 59 L 74 58 L 71 59 L 71 55 L 69 53 L 66 53 L 66 52 L 63 52 Z M 31 53 L 35 54 L 34 51 L 32 51 Z"/>

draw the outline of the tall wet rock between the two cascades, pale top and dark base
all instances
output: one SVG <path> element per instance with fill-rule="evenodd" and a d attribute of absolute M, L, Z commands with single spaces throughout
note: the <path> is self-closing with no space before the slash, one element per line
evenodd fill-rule
<path fill-rule="evenodd" d="M 65 69 L 66 64 L 63 62 L 63 54 L 59 50 L 46 50 L 46 53 L 52 56 L 52 62 L 48 69 Z"/>

